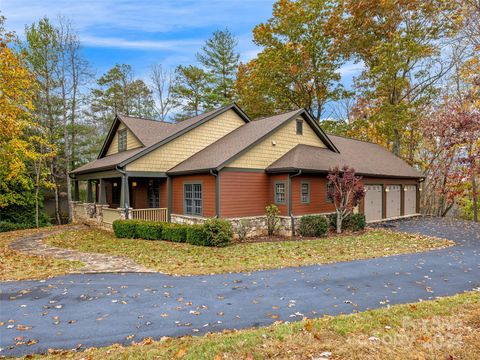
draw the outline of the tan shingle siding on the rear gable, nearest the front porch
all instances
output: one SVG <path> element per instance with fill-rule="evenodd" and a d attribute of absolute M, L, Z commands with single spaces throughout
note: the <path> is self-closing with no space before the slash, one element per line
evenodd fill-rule
<path fill-rule="evenodd" d="M 167 171 L 244 124 L 235 111 L 226 111 L 128 164 L 127 170 Z"/>

